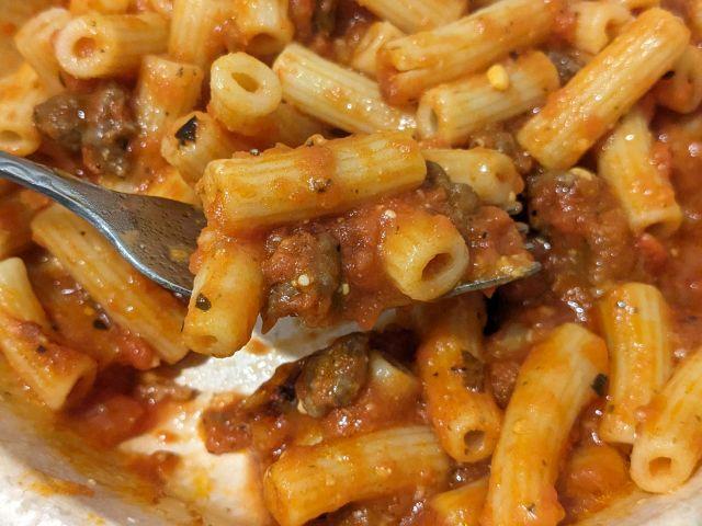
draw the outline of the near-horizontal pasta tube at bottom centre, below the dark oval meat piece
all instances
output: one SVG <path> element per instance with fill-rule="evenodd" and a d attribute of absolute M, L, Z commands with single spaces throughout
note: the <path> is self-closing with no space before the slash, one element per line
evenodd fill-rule
<path fill-rule="evenodd" d="M 299 526 L 352 501 L 440 484 L 449 467 L 430 428 L 392 427 L 285 451 L 263 496 L 282 526 Z"/>

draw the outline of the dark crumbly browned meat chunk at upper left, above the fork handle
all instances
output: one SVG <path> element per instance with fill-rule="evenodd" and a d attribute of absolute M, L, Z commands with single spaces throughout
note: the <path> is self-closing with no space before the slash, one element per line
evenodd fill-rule
<path fill-rule="evenodd" d="M 136 125 L 128 92 L 107 83 L 89 94 L 61 93 L 34 108 L 38 130 L 71 152 L 97 174 L 125 176 L 129 170 L 129 141 Z"/>

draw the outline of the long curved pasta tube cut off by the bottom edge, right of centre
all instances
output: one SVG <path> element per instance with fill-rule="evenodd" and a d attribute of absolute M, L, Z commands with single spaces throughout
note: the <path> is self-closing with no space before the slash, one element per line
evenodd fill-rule
<path fill-rule="evenodd" d="M 573 323 L 553 330 L 523 363 L 492 455 L 483 526 L 555 525 L 565 515 L 554 488 L 580 410 L 607 373 L 604 342 Z"/>

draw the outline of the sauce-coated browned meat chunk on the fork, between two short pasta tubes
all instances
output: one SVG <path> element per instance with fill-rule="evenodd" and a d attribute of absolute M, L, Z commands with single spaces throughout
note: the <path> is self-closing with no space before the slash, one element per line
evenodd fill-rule
<path fill-rule="evenodd" d="M 285 316 L 298 316 L 310 327 L 324 324 L 341 281 L 339 242 L 327 232 L 275 231 L 267 252 L 267 325 Z"/>

